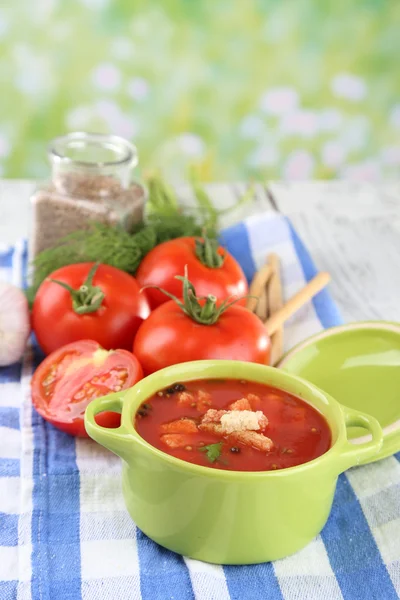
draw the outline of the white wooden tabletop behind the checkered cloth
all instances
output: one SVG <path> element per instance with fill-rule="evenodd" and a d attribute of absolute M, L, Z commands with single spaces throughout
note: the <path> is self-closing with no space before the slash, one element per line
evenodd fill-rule
<path fill-rule="evenodd" d="M 34 187 L 32 181 L 0 180 L 1 245 L 28 236 Z M 221 208 L 243 189 L 208 186 Z M 188 189 L 180 192 L 190 202 Z M 346 321 L 400 321 L 400 182 L 260 184 L 254 202 L 231 212 L 223 224 L 265 210 L 287 215 L 317 267 L 331 273 L 331 293 Z"/>

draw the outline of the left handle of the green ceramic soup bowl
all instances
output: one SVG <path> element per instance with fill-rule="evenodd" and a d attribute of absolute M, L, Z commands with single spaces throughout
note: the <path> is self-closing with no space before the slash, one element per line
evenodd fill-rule
<path fill-rule="evenodd" d="M 96 398 L 87 406 L 85 411 L 85 429 L 88 435 L 114 452 L 117 456 L 125 458 L 132 448 L 132 435 L 124 425 L 108 429 L 96 423 L 95 417 L 103 411 L 122 412 L 124 396 L 129 390 L 114 392 L 101 398 Z"/>

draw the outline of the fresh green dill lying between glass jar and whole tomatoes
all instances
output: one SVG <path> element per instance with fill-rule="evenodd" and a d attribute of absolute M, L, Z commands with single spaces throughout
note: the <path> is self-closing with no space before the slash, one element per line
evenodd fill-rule
<path fill-rule="evenodd" d="M 79 263 L 100 262 L 134 274 L 148 252 L 158 244 L 182 236 L 218 237 L 218 211 L 191 176 L 197 206 L 184 209 L 175 191 L 157 174 L 147 177 L 148 199 L 145 220 L 128 232 L 121 226 L 92 222 L 84 230 L 62 238 L 57 246 L 40 252 L 32 262 L 32 285 L 27 290 L 30 303 L 42 283 L 57 269 Z M 245 201 L 252 195 L 247 192 Z M 242 200 L 239 200 L 239 204 Z M 232 207 L 234 208 L 234 207 Z"/>

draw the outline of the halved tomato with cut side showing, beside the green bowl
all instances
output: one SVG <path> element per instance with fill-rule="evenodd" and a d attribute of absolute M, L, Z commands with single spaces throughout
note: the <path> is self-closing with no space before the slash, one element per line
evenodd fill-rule
<path fill-rule="evenodd" d="M 93 340 L 67 344 L 39 365 L 32 379 L 32 402 L 38 413 L 58 429 L 88 437 L 85 409 L 94 398 L 125 390 L 142 379 L 137 358 L 127 350 L 104 350 Z M 103 427 L 118 427 L 120 415 L 100 413 Z"/>

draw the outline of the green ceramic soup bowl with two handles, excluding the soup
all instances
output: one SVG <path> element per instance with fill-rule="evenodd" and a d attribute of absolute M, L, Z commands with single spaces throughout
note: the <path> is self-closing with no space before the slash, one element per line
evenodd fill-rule
<path fill-rule="evenodd" d="M 266 472 L 224 471 L 194 465 L 148 444 L 134 428 L 139 405 L 172 383 L 246 379 L 295 394 L 319 410 L 332 446 L 308 463 Z M 117 429 L 97 425 L 96 414 L 121 413 Z M 137 526 L 152 540 L 185 556 L 218 564 L 252 564 L 283 558 L 323 528 L 340 473 L 377 453 L 376 419 L 342 407 L 311 383 L 272 367 L 237 361 L 198 361 L 168 367 L 133 388 L 91 402 L 85 426 L 94 440 L 123 460 L 122 489 Z M 371 440 L 347 439 L 359 426 Z"/>

